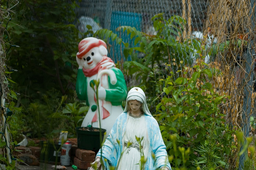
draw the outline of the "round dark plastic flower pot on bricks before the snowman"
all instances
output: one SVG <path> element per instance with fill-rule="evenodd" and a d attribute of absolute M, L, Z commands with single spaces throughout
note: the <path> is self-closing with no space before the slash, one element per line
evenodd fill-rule
<path fill-rule="evenodd" d="M 102 142 L 99 139 L 99 129 L 100 128 L 76 127 L 78 148 L 93 151 L 99 150 Z M 105 132 L 106 129 L 101 129 L 101 140 L 103 140 Z"/>

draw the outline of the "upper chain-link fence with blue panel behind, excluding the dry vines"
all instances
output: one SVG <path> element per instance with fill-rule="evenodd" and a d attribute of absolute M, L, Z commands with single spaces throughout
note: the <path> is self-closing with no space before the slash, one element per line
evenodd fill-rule
<path fill-rule="evenodd" d="M 131 26 L 144 33 L 154 35 L 155 30 L 151 18 L 156 14 L 164 13 L 165 18 L 170 18 L 173 15 L 186 18 L 188 20 L 186 34 L 190 36 L 192 31 L 203 31 L 207 14 L 206 0 L 83 0 L 77 4 L 79 8 L 76 9 L 76 13 L 80 31 L 86 32 L 87 24 L 93 27 L 94 32 L 101 28 L 110 29 L 130 45 L 132 45 L 132 39 L 125 34 L 118 33 L 117 27 Z M 114 46 L 117 45 L 114 44 Z M 110 57 L 114 61 L 120 61 L 122 50 L 116 49 L 110 53 Z M 113 51 L 113 48 L 110 51 Z"/>

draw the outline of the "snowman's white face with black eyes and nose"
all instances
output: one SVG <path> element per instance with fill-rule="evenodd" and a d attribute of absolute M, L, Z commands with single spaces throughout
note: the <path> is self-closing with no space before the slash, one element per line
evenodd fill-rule
<path fill-rule="evenodd" d="M 88 53 L 81 58 L 83 68 L 92 69 L 99 61 L 101 61 L 102 55 L 99 53 L 99 48 L 94 47 Z"/>

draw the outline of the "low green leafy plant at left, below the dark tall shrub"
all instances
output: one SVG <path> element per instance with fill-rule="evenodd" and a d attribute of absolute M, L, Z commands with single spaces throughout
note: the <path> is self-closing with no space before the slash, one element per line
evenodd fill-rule
<path fill-rule="evenodd" d="M 52 113 L 62 109 L 62 105 L 67 99 L 60 99 L 59 95 L 57 90 L 49 90 L 46 94 L 39 95 L 41 98 L 33 100 L 24 110 L 25 114 L 18 115 L 19 119 L 25 123 L 23 131 L 27 132 L 27 137 L 48 137 L 47 135 L 55 132 L 54 130 L 63 128 L 64 121 L 61 118 L 51 117 Z"/>

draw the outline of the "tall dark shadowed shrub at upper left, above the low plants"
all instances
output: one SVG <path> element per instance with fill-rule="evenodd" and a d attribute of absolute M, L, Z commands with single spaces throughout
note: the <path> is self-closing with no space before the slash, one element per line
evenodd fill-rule
<path fill-rule="evenodd" d="M 8 54 L 14 57 L 8 64 L 18 70 L 15 89 L 26 108 L 52 88 L 60 91 L 59 98 L 73 95 L 79 42 L 78 30 L 70 24 L 75 7 L 75 2 L 62 0 L 25 0 L 15 7 L 7 29 L 20 48 L 11 48 Z"/>

